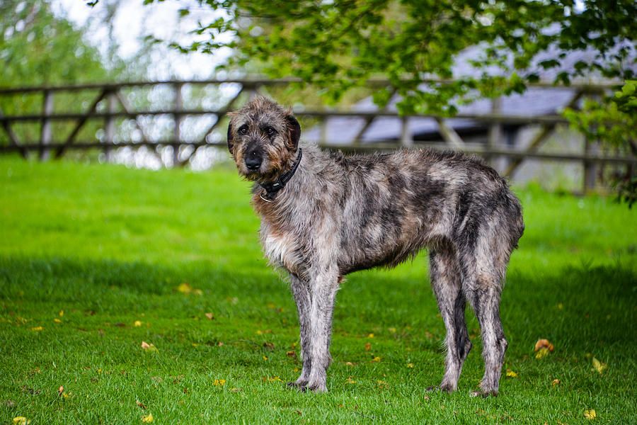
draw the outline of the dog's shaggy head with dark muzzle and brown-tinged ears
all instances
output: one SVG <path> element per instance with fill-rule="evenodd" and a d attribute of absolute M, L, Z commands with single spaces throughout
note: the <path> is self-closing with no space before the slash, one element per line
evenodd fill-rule
<path fill-rule="evenodd" d="M 299 147 L 301 126 L 292 112 L 258 97 L 230 113 L 228 149 L 248 180 L 270 180 L 285 171 Z"/>

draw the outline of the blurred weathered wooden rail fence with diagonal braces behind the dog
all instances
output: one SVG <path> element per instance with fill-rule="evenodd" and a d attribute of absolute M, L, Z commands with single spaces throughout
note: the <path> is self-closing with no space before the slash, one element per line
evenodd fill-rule
<path fill-rule="evenodd" d="M 120 84 L 79 84 L 73 86 L 41 86 L 41 87 L 23 87 L 12 89 L 0 89 L 0 106 L 1 101 L 13 98 L 13 105 L 19 104 L 21 98 L 25 96 L 37 96 L 41 101 L 41 109 L 32 113 L 15 113 L 5 115 L 0 109 L 0 126 L 4 129 L 4 137 L 0 136 L 0 153 L 1 152 L 19 152 L 24 158 L 28 158 L 30 152 L 38 152 L 38 157 L 42 160 L 54 157 L 61 158 L 72 149 L 101 149 L 105 154 L 110 154 L 113 149 L 122 147 L 150 147 L 151 151 L 156 152 L 161 147 L 172 147 L 172 159 L 170 164 L 165 165 L 184 165 L 188 164 L 190 156 L 198 147 L 206 146 L 225 146 L 224 140 L 210 140 L 212 132 L 221 134 L 222 122 L 225 115 L 236 108 L 241 98 L 254 96 L 258 93 L 267 92 L 272 86 L 285 86 L 293 83 L 294 80 L 280 79 L 226 79 L 226 80 L 206 80 L 206 81 L 140 81 L 128 82 Z M 427 82 L 427 81 L 425 81 Z M 433 81 L 432 82 L 440 82 Z M 231 96 L 224 99 L 222 106 L 215 108 L 188 108 L 183 102 L 183 88 L 189 87 L 207 87 L 222 85 L 234 85 L 237 89 Z M 370 81 L 370 86 L 386 86 L 386 81 Z M 156 86 L 164 86 L 171 91 L 171 105 L 168 108 L 134 108 L 130 101 L 131 93 L 139 89 L 152 89 Z M 553 87 L 551 84 L 533 84 L 532 86 Z M 604 91 L 611 89 L 612 84 L 574 84 L 569 86 L 573 90 L 573 97 L 570 99 L 569 106 L 578 105 L 580 98 L 583 96 L 599 95 Z M 125 91 L 128 94 L 125 94 Z M 55 100 L 59 96 L 64 96 L 65 102 L 74 106 L 73 96 L 84 96 L 84 111 L 54 111 Z M 91 101 L 88 100 L 88 94 L 93 94 Z M 17 99 L 17 101 L 16 101 Z M 69 101 L 71 99 L 71 101 Z M 147 102 L 148 103 L 148 102 Z M 150 104 L 148 106 L 151 106 Z M 490 113 L 467 114 L 460 113 L 454 118 L 466 118 L 474 120 L 477 123 L 483 123 L 489 128 L 488 140 L 486 144 L 466 143 L 459 136 L 458 132 L 447 124 L 449 118 L 437 115 L 409 115 L 399 116 L 396 112 L 391 111 L 295 111 L 299 118 L 308 118 L 316 121 L 316 125 L 321 128 L 321 140 L 319 145 L 328 149 L 341 149 L 345 152 L 352 151 L 369 151 L 369 150 L 391 150 L 397 147 L 413 147 L 421 145 L 432 145 L 440 147 L 440 143 L 414 142 L 412 135 L 408 129 L 408 118 L 432 118 L 437 121 L 440 135 L 445 144 L 443 147 L 461 150 L 471 154 L 478 154 L 488 159 L 497 157 L 508 158 L 508 164 L 503 171 L 505 176 L 511 177 L 520 167 L 525 159 L 539 159 L 550 161 L 564 162 L 580 162 L 584 167 L 584 188 L 595 186 L 596 176 L 599 175 L 599 166 L 605 164 L 614 164 L 615 166 L 626 166 L 626 172 L 634 175 L 637 166 L 637 158 L 629 154 L 619 155 L 616 152 L 599 152 L 599 148 L 595 141 L 586 141 L 584 143 L 583 152 L 578 154 L 563 153 L 546 153 L 539 152 L 539 147 L 556 131 L 559 125 L 566 125 L 567 121 L 561 115 L 510 115 L 500 112 L 500 101 L 495 100 L 492 103 Z M 19 109 L 19 108 L 18 108 Z M 154 139 L 148 135 L 148 129 L 144 129 L 144 125 L 140 123 L 142 117 L 153 117 L 157 115 L 168 116 L 173 122 L 172 134 L 169 137 L 161 137 L 161 140 Z M 182 122 L 186 117 L 197 115 L 214 115 L 214 123 L 210 125 L 206 131 L 202 132 L 202 136 L 196 140 L 185 140 L 182 132 Z M 326 139 L 326 128 L 330 118 L 335 117 L 355 117 L 365 121 L 363 128 L 357 132 L 357 136 L 352 143 L 347 145 L 335 145 Z M 400 137 L 396 140 L 377 140 L 374 143 L 363 143 L 362 135 L 369 128 L 375 119 L 381 117 L 397 118 L 401 122 Z M 139 130 L 141 137 L 137 140 L 130 140 L 126 137 L 119 137 L 115 140 L 117 131 L 117 120 L 131 120 L 134 127 Z M 101 137 L 94 135 L 85 137 L 80 140 L 79 135 L 88 123 L 102 123 Z M 54 132 L 52 130 L 53 123 L 67 123 L 66 133 L 62 131 Z M 16 125 L 37 126 L 38 135 L 35 140 L 21 140 L 18 137 L 14 127 Z M 93 124 L 94 125 L 94 124 Z M 523 150 L 505 148 L 498 142 L 501 137 L 501 129 L 503 125 L 536 125 L 539 131 L 532 137 L 527 147 Z M 32 129 L 33 130 L 33 129 Z M 33 134 L 33 131 L 31 132 Z M 1 140 L 5 142 L 1 142 Z M 190 146 L 190 152 L 180 155 L 180 147 Z"/>

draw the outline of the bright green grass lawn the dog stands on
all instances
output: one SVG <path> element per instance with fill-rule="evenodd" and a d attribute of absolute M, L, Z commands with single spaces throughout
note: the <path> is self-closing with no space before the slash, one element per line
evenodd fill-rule
<path fill-rule="evenodd" d="M 636 211 L 517 190 L 527 230 L 502 302 L 505 368 L 517 376 L 503 375 L 499 397 L 469 397 L 483 367 L 469 310 L 474 351 L 459 391 L 425 392 L 444 361 L 425 253 L 343 283 L 329 392 L 315 395 L 283 385 L 300 368 L 296 311 L 260 252 L 248 192 L 230 166 L 0 158 L 0 424 L 149 414 L 155 424 L 576 424 L 587 409 L 594 423 L 637 420 Z M 537 359 L 541 338 L 555 351 Z"/>

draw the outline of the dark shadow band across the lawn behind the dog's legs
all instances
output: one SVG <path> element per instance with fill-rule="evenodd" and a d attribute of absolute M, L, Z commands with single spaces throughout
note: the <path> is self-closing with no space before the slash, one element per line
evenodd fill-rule
<path fill-rule="evenodd" d="M 444 326 L 426 278 L 396 274 L 351 276 L 338 295 L 335 327 L 369 332 L 412 327 L 416 338 L 419 331 L 432 331 L 436 339 L 442 338 Z M 0 299 L 9 305 L 74 303 L 104 312 L 163 306 L 169 312 L 176 307 L 178 298 L 173 295 L 180 295 L 177 288 L 182 283 L 202 290 L 203 296 L 196 302 L 211 308 L 224 302 L 224 308 L 232 309 L 228 300 L 240 299 L 249 317 L 257 317 L 271 305 L 285 307 L 290 318 L 295 315 L 287 283 L 265 264 L 236 271 L 203 262 L 161 266 L 0 257 Z M 513 271 L 503 292 L 502 316 L 510 350 L 520 356 L 532 353 L 529 344 L 539 338 L 556 341 L 560 348 L 592 351 L 637 341 L 633 327 L 636 304 L 634 268 L 620 263 L 596 267 L 583 263 L 553 271 Z M 479 334 L 473 314 L 467 311 L 470 333 Z"/>

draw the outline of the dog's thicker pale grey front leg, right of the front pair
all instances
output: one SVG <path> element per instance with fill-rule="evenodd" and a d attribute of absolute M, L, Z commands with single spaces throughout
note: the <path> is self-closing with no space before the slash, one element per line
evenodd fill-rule
<path fill-rule="evenodd" d="M 326 269 L 313 273 L 310 285 L 311 370 L 304 390 L 326 392 L 327 368 L 331 362 L 329 348 L 332 335 L 332 313 L 336 290 L 338 290 L 338 272 Z"/>

